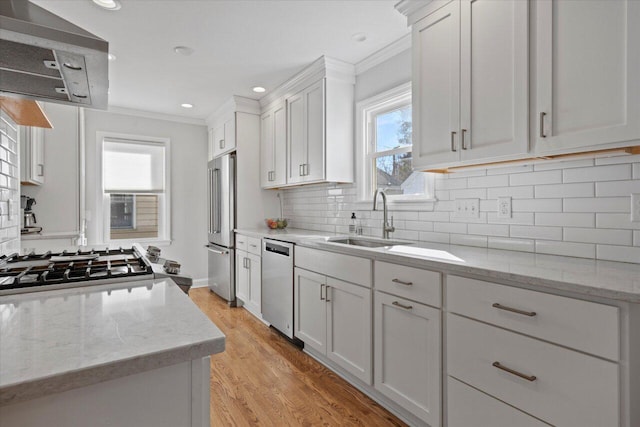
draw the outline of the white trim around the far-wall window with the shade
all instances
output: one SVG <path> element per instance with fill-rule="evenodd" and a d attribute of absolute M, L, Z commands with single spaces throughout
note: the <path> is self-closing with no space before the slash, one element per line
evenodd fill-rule
<path fill-rule="evenodd" d="M 104 140 L 107 139 L 122 139 L 129 141 L 136 141 L 144 144 L 164 144 L 165 157 L 164 157 L 164 206 L 162 214 L 160 215 L 161 222 L 158 225 L 158 238 L 146 238 L 146 239 L 110 239 L 110 226 L 106 222 L 105 218 L 110 217 L 110 204 L 108 195 L 104 192 L 104 178 L 103 178 L 103 163 L 102 152 L 104 149 Z M 101 245 L 120 245 L 129 246 L 134 243 L 154 243 L 156 245 L 166 246 L 171 244 L 171 140 L 169 138 L 160 138 L 145 135 L 133 135 L 114 132 L 96 132 L 96 191 L 95 191 L 95 206 L 96 206 L 96 224 L 95 230 L 98 232 L 97 244 Z M 135 221 L 135 220 L 134 220 Z"/>

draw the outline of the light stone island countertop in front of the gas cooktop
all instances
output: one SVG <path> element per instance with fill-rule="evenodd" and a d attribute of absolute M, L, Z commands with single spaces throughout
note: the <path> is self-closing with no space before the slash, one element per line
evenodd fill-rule
<path fill-rule="evenodd" d="M 0 405 L 224 349 L 224 334 L 170 280 L 0 297 Z"/>

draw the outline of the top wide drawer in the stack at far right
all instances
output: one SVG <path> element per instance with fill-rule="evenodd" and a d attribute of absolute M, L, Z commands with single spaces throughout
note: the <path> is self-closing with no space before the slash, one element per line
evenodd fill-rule
<path fill-rule="evenodd" d="M 619 359 L 617 307 L 458 276 L 447 276 L 447 306 L 453 313 Z"/>

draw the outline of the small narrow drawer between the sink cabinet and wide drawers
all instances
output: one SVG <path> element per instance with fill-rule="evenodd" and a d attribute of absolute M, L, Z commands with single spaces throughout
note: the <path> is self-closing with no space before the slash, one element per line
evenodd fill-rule
<path fill-rule="evenodd" d="M 423 304 L 440 307 L 442 275 L 434 271 L 388 262 L 374 263 L 376 289 Z"/>

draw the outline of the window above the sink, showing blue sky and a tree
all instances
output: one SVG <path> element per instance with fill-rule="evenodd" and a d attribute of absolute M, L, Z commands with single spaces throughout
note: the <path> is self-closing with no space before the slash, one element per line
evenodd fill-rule
<path fill-rule="evenodd" d="M 371 200 L 376 189 L 390 201 L 428 199 L 433 179 L 411 164 L 411 84 L 360 102 L 357 114 L 360 200 Z"/>

